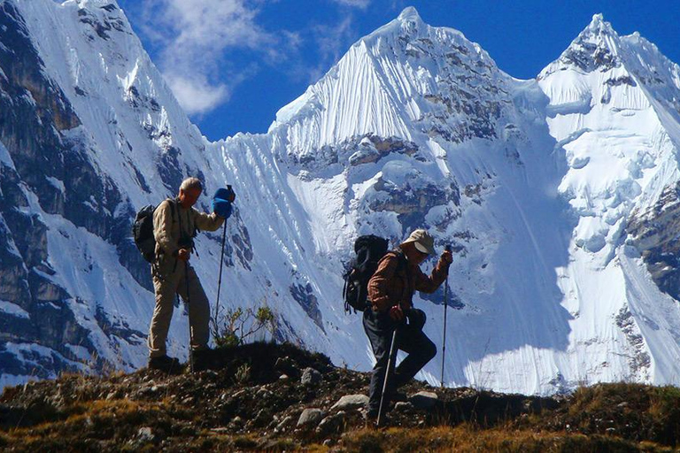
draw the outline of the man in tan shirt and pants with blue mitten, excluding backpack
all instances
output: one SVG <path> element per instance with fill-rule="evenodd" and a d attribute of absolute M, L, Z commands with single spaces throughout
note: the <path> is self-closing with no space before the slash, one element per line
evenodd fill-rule
<path fill-rule="evenodd" d="M 197 178 L 182 181 L 179 195 L 158 204 L 153 213 L 153 235 L 156 239 L 156 259 L 151 265 L 156 306 L 149 333 L 149 368 L 170 371 L 179 369 L 179 360 L 166 355 L 167 332 L 173 317 L 176 294 L 189 307 L 191 332 L 190 348 L 194 352 L 195 367 L 201 352 L 207 350 L 210 332 L 210 305 L 189 257 L 194 248 L 197 229 L 215 231 L 231 214 L 231 203 L 236 197 L 229 188 L 225 199 L 213 197 L 213 213 L 197 211 L 193 205 L 203 191 Z M 225 192 L 226 193 L 226 192 Z"/>

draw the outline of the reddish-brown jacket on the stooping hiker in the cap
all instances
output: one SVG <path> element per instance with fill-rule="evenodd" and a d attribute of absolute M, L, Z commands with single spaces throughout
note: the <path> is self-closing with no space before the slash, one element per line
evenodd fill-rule
<path fill-rule="evenodd" d="M 397 252 L 388 252 L 378 263 L 371 280 L 368 280 L 368 300 L 373 311 L 386 311 L 398 303 L 401 308 L 409 309 L 413 306 L 415 291 L 434 293 L 446 280 L 449 265 L 441 258 L 430 276 L 422 273 L 420 266 L 402 259 L 406 261 Z"/>

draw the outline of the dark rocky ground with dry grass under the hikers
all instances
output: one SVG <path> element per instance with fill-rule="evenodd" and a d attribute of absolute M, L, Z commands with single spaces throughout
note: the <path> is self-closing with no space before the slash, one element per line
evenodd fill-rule
<path fill-rule="evenodd" d="M 291 345 L 213 352 L 214 371 L 65 375 L 5 389 L 4 451 L 674 451 L 680 389 L 634 384 L 538 398 L 413 382 L 385 427 L 369 375 Z"/>

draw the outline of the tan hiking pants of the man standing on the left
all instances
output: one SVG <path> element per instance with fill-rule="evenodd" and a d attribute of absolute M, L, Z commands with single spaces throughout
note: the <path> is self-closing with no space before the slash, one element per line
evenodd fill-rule
<path fill-rule="evenodd" d="M 189 281 L 186 278 L 187 273 Z M 151 275 L 156 293 L 156 307 L 153 310 L 149 332 L 149 357 L 166 355 L 167 331 L 170 328 L 170 319 L 173 318 L 174 297 L 179 294 L 184 303 L 187 303 L 187 288 L 189 288 L 191 349 L 207 348 L 210 339 L 208 330 L 210 304 L 194 268 L 183 261 L 177 261 L 174 272 L 151 271 Z"/>

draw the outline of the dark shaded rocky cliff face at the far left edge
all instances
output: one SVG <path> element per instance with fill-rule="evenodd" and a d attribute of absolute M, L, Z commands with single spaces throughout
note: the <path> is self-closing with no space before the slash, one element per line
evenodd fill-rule
<path fill-rule="evenodd" d="M 89 160 L 78 132 L 81 121 L 47 76 L 29 36 L 15 5 L 0 5 L 0 142 L 4 144 L 0 150 L 4 155 L 0 299 L 12 304 L 12 310 L 0 311 L 0 324 L 3 372 L 35 372 L 46 378 L 77 367 L 72 362 L 77 355 L 69 344 L 93 353 L 97 348 L 88 338 L 88 329 L 68 308 L 72 296 L 51 279 L 55 270 L 48 260 L 48 226 L 31 207 L 37 204 L 46 215 L 108 238 L 114 234 L 111 212 L 120 203 L 120 192 Z M 10 342 L 40 344 L 53 353 L 29 354 L 21 360 L 6 349 Z"/>

